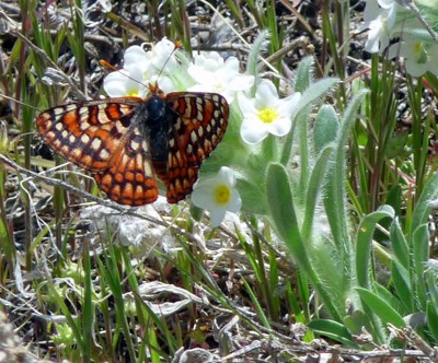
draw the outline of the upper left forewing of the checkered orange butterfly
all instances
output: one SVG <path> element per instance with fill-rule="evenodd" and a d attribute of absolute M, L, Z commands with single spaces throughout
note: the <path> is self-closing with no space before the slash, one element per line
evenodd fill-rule
<path fill-rule="evenodd" d="M 56 153 L 87 171 L 101 172 L 123 147 L 132 109 L 105 101 L 69 104 L 42 113 L 36 126 Z"/>

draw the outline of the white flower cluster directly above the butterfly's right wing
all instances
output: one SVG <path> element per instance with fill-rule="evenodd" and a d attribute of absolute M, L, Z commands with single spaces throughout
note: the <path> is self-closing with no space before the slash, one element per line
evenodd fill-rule
<path fill-rule="evenodd" d="M 239 72 L 239 60 L 230 57 L 226 61 L 216 51 L 195 56 L 187 72 L 197 83 L 188 89 L 194 92 L 216 92 L 231 104 L 239 91 L 246 91 L 254 84 L 254 77 Z"/>

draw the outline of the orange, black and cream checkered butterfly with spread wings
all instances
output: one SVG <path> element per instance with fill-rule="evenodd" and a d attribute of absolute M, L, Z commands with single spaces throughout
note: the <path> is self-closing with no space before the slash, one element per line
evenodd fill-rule
<path fill-rule="evenodd" d="M 111 97 L 57 106 L 36 118 L 50 149 L 91 173 L 106 196 L 142 206 L 158 198 L 157 177 L 176 203 L 193 190 L 203 161 L 222 140 L 229 118 L 217 93 L 150 86 L 146 98 Z"/>

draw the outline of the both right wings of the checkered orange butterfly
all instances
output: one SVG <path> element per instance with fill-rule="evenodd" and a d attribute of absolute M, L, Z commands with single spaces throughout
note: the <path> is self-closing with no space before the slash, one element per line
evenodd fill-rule
<path fill-rule="evenodd" d="M 169 160 L 163 182 L 168 201 L 175 203 L 193 190 L 201 162 L 222 140 L 227 130 L 229 106 L 216 93 L 170 93 L 170 107 L 178 115 L 169 131 Z"/>

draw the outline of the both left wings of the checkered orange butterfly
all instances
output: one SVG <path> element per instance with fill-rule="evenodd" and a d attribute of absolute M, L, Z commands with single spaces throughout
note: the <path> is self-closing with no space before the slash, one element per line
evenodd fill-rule
<path fill-rule="evenodd" d="M 55 107 L 36 126 L 64 159 L 92 173 L 110 199 L 129 206 L 158 197 L 148 144 L 132 116 L 142 98 L 122 97 Z"/>

